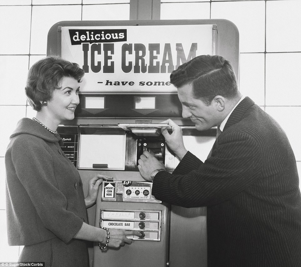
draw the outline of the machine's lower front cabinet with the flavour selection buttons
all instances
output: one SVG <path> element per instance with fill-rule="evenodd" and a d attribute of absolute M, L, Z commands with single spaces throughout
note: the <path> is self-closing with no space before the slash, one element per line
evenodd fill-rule
<path fill-rule="evenodd" d="M 110 182 L 111 188 L 114 187 L 114 183 L 116 187 L 120 184 L 119 181 Z M 105 198 L 108 196 L 107 184 L 103 185 L 103 190 L 99 190 L 101 197 L 98 197 L 96 202 L 95 226 L 135 230 L 141 232 L 142 236 L 129 235 L 128 238 L 132 239 L 132 244 L 125 244 L 124 247 L 118 249 L 101 250 L 98 243 L 95 242 L 94 267 L 166 266 L 168 262 L 169 209 L 166 205 L 158 203 L 156 199 L 149 199 L 148 202 L 145 202 L 143 194 L 139 197 L 142 202 L 138 202 L 139 198 L 134 199 L 134 196 L 135 201 L 129 202 L 127 190 L 150 189 L 144 182 L 140 183 L 141 185 L 139 182 L 135 182 L 132 186 L 128 186 L 126 182 L 123 183 L 125 184 L 124 190 L 121 190 L 124 192 L 124 194 L 122 193 L 123 197 L 115 197 L 114 201 Z M 115 195 L 116 192 L 118 189 L 116 189 Z M 127 193 L 129 196 L 131 195 L 129 191 Z M 138 191 L 136 194 L 140 195 Z"/>

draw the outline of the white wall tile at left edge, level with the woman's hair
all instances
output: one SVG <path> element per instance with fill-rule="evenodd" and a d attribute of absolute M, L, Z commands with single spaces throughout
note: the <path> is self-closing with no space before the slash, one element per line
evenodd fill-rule
<path fill-rule="evenodd" d="M 0 105 L 26 105 L 28 56 L 0 56 Z"/>

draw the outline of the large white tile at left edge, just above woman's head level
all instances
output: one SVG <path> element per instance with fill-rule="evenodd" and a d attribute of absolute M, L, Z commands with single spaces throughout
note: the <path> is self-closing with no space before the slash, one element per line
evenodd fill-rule
<path fill-rule="evenodd" d="M 28 54 L 31 6 L 0 7 L 0 53 Z"/>

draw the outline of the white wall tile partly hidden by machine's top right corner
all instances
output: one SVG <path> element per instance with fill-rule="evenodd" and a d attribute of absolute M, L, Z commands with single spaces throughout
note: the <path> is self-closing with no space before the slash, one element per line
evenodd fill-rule
<path fill-rule="evenodd" d="M 265 1 L 213 2 L 211 18 L 227 19 L 237 26 L 240 52 L 264 52 Z"/>

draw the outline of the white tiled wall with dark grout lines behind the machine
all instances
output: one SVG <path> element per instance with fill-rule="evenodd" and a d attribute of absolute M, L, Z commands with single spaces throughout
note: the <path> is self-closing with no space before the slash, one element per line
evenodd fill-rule
<path fill-rule="evenodd" d="M 161 2 L 161 19 L 224 18 L 237 25 L 240 90 L 284 128 L 300 174 L 301 1 Z M 24 86 L 29 66 L 46 55 L 48 30 L 62 20 L 129 18 L 130 0 L 0 0 L 0 261 L 16 261 L 20 250 L 7 245 L 4 154 L 17 121 L 35 114 Z"/>

